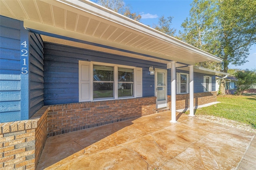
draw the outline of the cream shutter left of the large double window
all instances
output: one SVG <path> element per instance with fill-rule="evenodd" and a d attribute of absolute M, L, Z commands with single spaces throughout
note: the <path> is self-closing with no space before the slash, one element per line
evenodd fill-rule
<path fill-rule="evenodd" d="M 90 61 L 79 61 L 79 102 L 90 101 Z"/>

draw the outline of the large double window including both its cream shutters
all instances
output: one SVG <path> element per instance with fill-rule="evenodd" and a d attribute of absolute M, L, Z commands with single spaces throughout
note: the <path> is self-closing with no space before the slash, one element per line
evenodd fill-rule
<path fill-rule="evenodd" d="M 142 97 L 142 68 L 79 61 L 79 101 Z"/>

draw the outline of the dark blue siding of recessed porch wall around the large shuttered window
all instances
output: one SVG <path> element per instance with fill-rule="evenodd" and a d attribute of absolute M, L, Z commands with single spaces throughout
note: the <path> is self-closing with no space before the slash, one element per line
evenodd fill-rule
<path fill-rule="evenodd" d="M 44 104 L 78 102 L 78 61 L 97 61 L 142 67 L 143 97 L 154 96 L 154 75 L 148 68 L 166 69 L 166 64 L 131 57 L 44 43 Z M 170 78 L 170 76 L 169 76 Z"/>

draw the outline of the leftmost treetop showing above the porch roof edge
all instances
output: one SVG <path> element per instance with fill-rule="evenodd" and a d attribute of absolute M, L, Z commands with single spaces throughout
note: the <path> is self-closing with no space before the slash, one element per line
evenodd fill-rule
<path fill-rule="evenodd" d="M 119 14 L 127 16 L 128 18 L 131 18 L 138 22 L 141 19 L 140 14 L 136 14 L 135 12 L 131 13 L 131 6 L 125 5 L 123 0 L 98 0 L 97 4 L 113 10 L 114 12 L 118 12 Z"/>

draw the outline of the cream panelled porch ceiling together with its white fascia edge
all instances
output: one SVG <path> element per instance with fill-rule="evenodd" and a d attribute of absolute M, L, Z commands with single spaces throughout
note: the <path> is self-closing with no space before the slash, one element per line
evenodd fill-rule
<path fill-rule="evenodd" d="M 153 56 L 163 63 L 192 65 L 222 61 L 87 0 L 0 0 L 0 15 L 24 21 L 25 28 L 97 43 L 104 51 L 120 55 L 132 51 L 136 53 L 133 57 L 140 59 Z"/>

